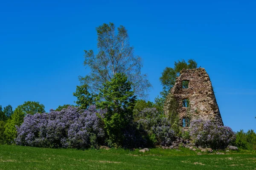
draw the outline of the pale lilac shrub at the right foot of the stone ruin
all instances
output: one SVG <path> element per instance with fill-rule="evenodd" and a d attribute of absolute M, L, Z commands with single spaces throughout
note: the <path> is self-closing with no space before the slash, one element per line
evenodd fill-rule
<path fill-rule="evenodd" d="M 198 146 L 224 149 L 236 140 L 230 127 L 215 125 L 213 121 L 194 120 L 190 127 L 190 136 Z"/>

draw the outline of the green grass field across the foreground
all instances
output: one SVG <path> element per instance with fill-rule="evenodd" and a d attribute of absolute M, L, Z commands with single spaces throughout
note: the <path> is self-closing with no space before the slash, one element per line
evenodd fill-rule
<path fill-rule="evenodd" d="M 0 145 L 0 170 L 256 170 L 256 153 L 181 150 L 74 150 Z"/>

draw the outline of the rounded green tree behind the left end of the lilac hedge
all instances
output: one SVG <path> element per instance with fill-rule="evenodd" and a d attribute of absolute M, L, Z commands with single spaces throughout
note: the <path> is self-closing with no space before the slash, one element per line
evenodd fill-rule
<path fill-rule="evenodd" d="M 8 119 L 5 125 L 4 135 L 7 144 L 14 144 L 17 136 L 16 126 L 23 123 L 23 118 L 26 114 L 34 115 L 35 113 L 44 113 L 44 105 L 39 102 L 24 102 L 23 105 L 18 105 L 11 119 Z"/>

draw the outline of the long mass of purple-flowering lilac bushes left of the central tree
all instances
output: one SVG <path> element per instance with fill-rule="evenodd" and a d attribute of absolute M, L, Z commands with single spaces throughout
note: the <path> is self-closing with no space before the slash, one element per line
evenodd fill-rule
<path fill-rule="evenodd" d="M 17 127 L 16 144 L 33 147 L 88 148 L 98 147 L 105 133 L 100 117 L 104 110 L 95 105 L 87 110 L 69 106 L 61 111 L 27 114 Z"/>

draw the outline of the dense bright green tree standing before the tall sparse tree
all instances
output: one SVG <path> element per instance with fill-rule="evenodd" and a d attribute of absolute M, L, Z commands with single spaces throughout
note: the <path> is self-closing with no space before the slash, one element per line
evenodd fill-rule
<path fill-rule="evenodd" d="M 124 140 L 123 131 L 133 121 L 136 96 L 131 90 L 131 82 L 125 74 L 115 74 L 111 81 L 104 83 L 103 88 L 100 89 L 99 98 L 103 100 L 96 105 L 107 109 L 102 120 L 108 134 L 108 144 L 120 147 Z"/>

